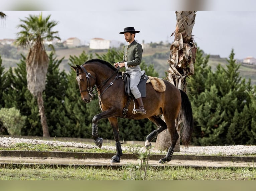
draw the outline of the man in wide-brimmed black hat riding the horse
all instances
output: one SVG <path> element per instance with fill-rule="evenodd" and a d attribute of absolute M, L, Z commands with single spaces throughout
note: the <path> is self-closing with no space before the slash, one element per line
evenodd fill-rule
<path fill-rule="evenodd" d="M 144 115 L 146 114 L 146 110 L 144 109 L 141 93 L 137 87 L 141 79 L 141 69 L 139 65 L 141 63 L 143 50 L 141 44 L 134 40 L 135 33 L 139 32 L 140 31 L 135 31 L 134 27 L 126 27 L 123 32 L 120 32 L 120 34 L 124 34 L 128 45 L 124 47 L 123 61 L 115 63 L 114 67 L 125 67 L 126 73 L 130 75 L 131 93 L 139 103 L 139 109 L 136 109 L 136 111 Z"/>

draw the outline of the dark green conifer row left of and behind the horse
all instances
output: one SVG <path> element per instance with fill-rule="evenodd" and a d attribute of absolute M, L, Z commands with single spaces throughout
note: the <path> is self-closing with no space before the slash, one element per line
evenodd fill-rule
<path fill-rule="evenodd" d="M 114 49 L 104 55 L 97 55 L 99 59 L 108 62 L 121 61 L 122 52 Z M 48 56 L 49 66 L 46 75 L 45 91 L 43 92 L 45 114 L 50 136 L 91 138 L 92 118 L 100 113 L 98 96 L 96 95 L 90 104 L 81 100 L 79 87 L 76 82 L 76 73 L 59 70 L 63 60 L 56 59 L 51 52 Z M 69 65 L 81 65 L 85 61 L 93 59 L 93 56 L 81 53 L 80 56 L 70 56 Z M 25 56 L 22 55 L 17 67 L 4 72 L 0 59 L 0 109 L 3 107 L 18 109 L 26 117 L 25 126 L 21 129 L 21 135 L 42 136 L 42 126 L 38 113 L 36 98 L 27 89 Z M 142 69 L 149 76 L 157 76 L 152 65 L 141 63 Z M 144 120 L 120 119 L 120 137 L 124 140 L 144 140 L 144 137 L 155 129 L 154 124 Z M 138 130 L 139 129 L 139 130 Z M 112 127 L 108 120 L 99 122 L 100 136 L 113 139 Z M 0 122 L 0 134 L 8 134 Z"/>

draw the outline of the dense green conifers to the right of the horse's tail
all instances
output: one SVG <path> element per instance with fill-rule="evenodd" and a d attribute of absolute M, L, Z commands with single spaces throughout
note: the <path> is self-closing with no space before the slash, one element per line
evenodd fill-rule
<path fill-rule="evenodd" d="M 251 140 L 248 133 L 253 122 L 248 112 L 253 112 L 249 95 L 252 87 L 250 81 L 246 84 L 241 79 L 233 50 L 227 61 L 226 69 L 218 65 L 213 73 L 209 67 L 202 67 L 203 59 L 197 56 L 195 75 L 188 81 L 195 120 L 194 144 L 246 144 Z"/>

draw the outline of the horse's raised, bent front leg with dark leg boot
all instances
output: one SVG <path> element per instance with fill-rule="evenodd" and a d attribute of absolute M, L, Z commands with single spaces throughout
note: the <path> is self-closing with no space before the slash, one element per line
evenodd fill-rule
<path fill-rule="evenodd" d="M 114 115 L 116 115 L 115 109 L 107 109 L 106 111 L 103 111 L 103 112 L 101 112 L 101 113 L 99 113 L 99 114 L 97 114 L 93 117 L 93 120 L 92 120 L 92 122 L 93 122 L 93 124 L 92 124 L 92 137 L 94 139 L 94 143 L 99 148 L 101 148 L 101 146 L 102 146 L 103 139 L 99 137 L 97 123 L 100 119 L 109 118 L 109 117 L 112 117 Z"/>

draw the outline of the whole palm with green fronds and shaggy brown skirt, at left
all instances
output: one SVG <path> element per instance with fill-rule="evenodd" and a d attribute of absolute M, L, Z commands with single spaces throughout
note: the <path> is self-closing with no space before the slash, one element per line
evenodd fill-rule
<path fill-rule="evenodd" d="M 42 93 L 45 90 L 45 79 L 48 69 L 48 56 L 43 43 L 44 41 L 52 41 L 54 38 L 60 40 L 56 36 L 58 32 L 52 31 L 52 28 L 57 25 L 57 22 L 50 21 L 49 19 L 50 15 L 43 18 L 42 13 L 38 16 L 29 15 L 24 20 L 20 19 L 22 24 L 18 25 L 17 28 L 21 28 L 21 31 L 17 33 L 17 39 L 15 41 L 18 46 L 29 48 L 26 58 L 27 88 L 34 97 L 37 97 L 44 137 L 49 137 L 50 135 L 42 97 Z"/>

